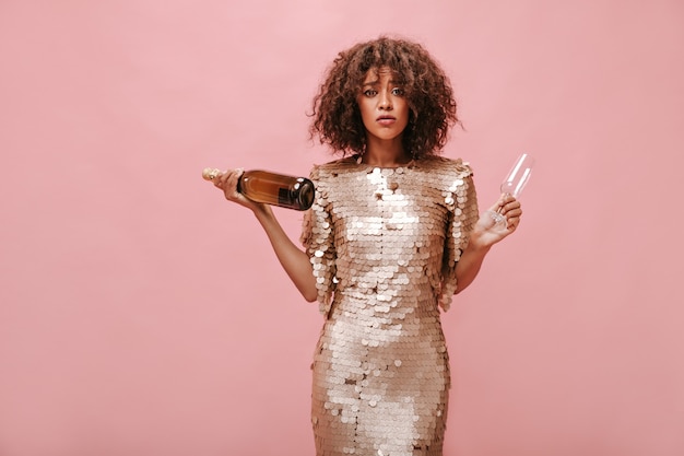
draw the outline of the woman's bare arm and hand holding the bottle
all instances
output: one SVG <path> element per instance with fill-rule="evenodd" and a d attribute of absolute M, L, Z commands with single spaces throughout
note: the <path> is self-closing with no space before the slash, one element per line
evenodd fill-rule
<path fill-rule="evenodd" d="M 316 278 L 308 255 L 299 249 L 283 231 L 270 206 L 250 201 L 237 191 L 237 179 L 240 175 L 241 171 L 229 169 L 213 178 L 212 182 L 223 190 L 227 200 L 252 211 L 263 227 L 278 260 L 299 293 L 308 302 L 316 301 Z"/>

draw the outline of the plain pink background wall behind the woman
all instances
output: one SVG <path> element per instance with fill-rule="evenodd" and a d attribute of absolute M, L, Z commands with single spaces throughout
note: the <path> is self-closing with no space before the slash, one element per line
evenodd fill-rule
<path fill-rule="evenodd" d="M 200 174 L 330 160 L 309 101 L 380 33 L 451 75 L 483 209 L 538 159 L 445 314 L 446 454 L 684 454 L 682 1 L 2 0 L 0 455 L 314 454 L 321 317 Z"/>

